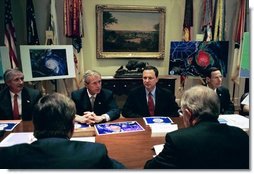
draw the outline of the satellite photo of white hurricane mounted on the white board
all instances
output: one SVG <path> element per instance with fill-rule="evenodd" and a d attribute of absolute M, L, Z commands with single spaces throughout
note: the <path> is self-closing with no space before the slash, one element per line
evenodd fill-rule
<path fill-rule="evenodd" d="M 65 49 L 32 49 L 30 57 L 34 78 L 68 75 Z"/>

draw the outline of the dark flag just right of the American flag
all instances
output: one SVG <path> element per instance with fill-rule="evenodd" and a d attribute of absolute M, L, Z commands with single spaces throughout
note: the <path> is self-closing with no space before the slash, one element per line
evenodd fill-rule
<path fill-rule="evenodd" d="M 33 0 L 26 1 L 26 29 L 27 29 L 27 44 L 39 45 L 39 37 L 37 33 Z"/>

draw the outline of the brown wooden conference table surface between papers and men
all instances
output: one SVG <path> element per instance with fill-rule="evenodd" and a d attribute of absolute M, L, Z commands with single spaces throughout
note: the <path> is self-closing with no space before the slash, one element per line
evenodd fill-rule
<path fill-rule="evenodd" d="M 183 128 L 181 117 L 171 119 L 178 125 L 178 129 Z M 109 156 L 124 164 L 128 169 L 142 169 L 145 162 L 155 155 L 153 146 L 165 143 L 165 137 L 151 137 L 151 129 L 145 125 L 143 118 L 119 118 L 113 122 L 123 121 L 137 121 L 145 131 L 96 135 L 95 141 L 105 144 Z M 22 121 L 13 132 L 33 132 L 33 124 L 31 121 Z M 8 134 L 6 132 L 4 137 Z"/>

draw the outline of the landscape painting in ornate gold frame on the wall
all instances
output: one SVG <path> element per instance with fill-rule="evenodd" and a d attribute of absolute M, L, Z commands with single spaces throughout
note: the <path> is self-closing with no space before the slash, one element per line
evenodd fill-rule
<path fill-rule="evenodd" d="M 164 59 L 165 7 L 97 5 L 97 58 Z"/>

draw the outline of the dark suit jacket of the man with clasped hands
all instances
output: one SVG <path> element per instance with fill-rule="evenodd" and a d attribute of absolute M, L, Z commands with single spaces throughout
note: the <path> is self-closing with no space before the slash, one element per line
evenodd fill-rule
<path fill-rule="evenodd" d="M 91 102 L 87 94 L 87 89 L 82 88 L 71 93 L 71 98 L 76 104 L 77 114 L 83 115 L 85 111 L 92 111 Z M 107 113 L 110 120 L 115 120 L 120 117 L 120 109 L 118 108 L 113 93 L 107 89 L 101 89 L 94 101 L 94 110 L 96 115 Z"/>

